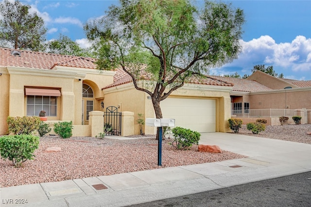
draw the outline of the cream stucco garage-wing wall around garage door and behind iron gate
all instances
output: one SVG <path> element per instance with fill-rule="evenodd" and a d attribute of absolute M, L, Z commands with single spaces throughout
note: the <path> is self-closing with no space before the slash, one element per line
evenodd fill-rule
<path fill-rule="evenodd" d="M 174 91 L 169 97 L 201 97 L 216 99 L 216 131 L 229 132 L 227 119 L 231 117 L 230 111 L 230 91 L 231 87 L 206 86 L 186 84 L 181 89 Z M 120 111 L 134 112 L 134 132 L 139 134 L 139 125 L 136 120 L 138 113 L 144 114 L 144 119 L 155 117 L 152 100 L 148 99 L 148 94 L 138 91 L 133 83 L 104 90 L 104 105 L 120 106 Z M 119 110 L 118 110 L 119 111 Z M 155 128 L 144 126 L 145 134 L 154 134 Z"/>

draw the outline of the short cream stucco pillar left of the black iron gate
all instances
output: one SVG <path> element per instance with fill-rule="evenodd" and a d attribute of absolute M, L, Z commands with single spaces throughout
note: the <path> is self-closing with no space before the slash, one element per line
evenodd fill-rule
<path fill-rule="evenodd" d="M 96 136 L 99 133 L 104 133 L 104 112 L 93 111 L 89 112 L 88 125 L 90 125 L 90 135 Z"/>

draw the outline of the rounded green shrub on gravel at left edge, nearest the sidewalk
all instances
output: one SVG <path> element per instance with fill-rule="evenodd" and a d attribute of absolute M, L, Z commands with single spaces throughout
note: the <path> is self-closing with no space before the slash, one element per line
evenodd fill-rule
<path fill-rule="evenodd" d="M 39 137 L 34 135 L 7 135 L 0 137 L 0 153 L 3 159 L 9 159 L 16 167 L 27 160 L 34 159 L 34 151 L 39 147 Z"/>

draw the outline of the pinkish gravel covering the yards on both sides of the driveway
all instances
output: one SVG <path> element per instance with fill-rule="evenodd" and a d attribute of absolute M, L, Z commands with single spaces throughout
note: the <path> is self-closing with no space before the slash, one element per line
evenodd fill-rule
<path fill-rule="evenodd" d="M 267 126 L 265 132 L 253 134 L 243 126 L 241 134 L 283 139 L 311 144 L 311 125 Z M 35 159 L 24 163 L 24 167 L 15 168 L 10 161 L 0 159 L 1 187 L 19 186 L 43 182 L 55 182 L 92 176 L 111 175 L 147 169 L 166 168 L 217 162 L 243 158 L 229 151 L 207 153 L 197 151 L 193 146 L 189 151 L 174 149 L 163 140 L 162 166 L 157 166 L 157 140 L 150 135 L 138 136 L 138 139 L 118 140 L 95 137 L 58 136 L 40 138 Z M 62 151 L 46 152 L 49 147 L 60 147 Z"/>

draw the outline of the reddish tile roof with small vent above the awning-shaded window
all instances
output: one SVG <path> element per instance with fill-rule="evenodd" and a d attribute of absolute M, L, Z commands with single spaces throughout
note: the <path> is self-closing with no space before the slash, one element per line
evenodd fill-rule
<path fill-rule="evenodd" d="M 11 51 L 19 51 L 20 56 L 12 55 Z M 79 56 L 66 56 L 39 53 L 24 50 L 0 48 L 0 66 L 16 66 L 25 68 L 52 69 L 55 65 L 76 68 L 95 69 L 96 59 Z"/>

